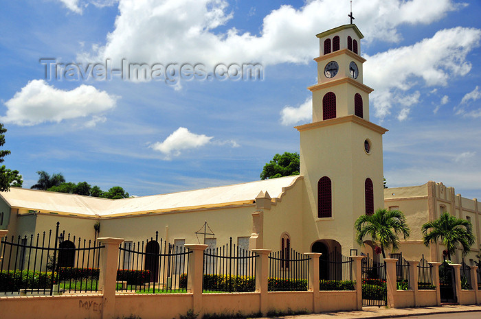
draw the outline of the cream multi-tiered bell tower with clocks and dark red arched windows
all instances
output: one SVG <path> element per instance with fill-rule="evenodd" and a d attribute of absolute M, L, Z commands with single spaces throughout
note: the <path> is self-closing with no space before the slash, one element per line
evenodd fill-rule
<path fill-rule="evenodd" d="M 317 34 L 320 56 L 312 123 L 300 132 L 300 174 L 304 176 L 304 245 L 338 241 L 342 253 L 355 244 L 357 217 L 384 206 L 382 135 L 369 121 L 369 94 L 360 56 L 363 35 L 355 24 Z"/>

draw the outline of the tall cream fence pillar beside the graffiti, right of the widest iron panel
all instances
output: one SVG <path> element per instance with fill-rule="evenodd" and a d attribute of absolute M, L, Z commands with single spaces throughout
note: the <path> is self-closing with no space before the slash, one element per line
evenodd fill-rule
<path fill-rule="evenodd" d="M 119 245 L 124 239 L 100 237 L 98 241 L 105 246 L 100 249 L 99 290 L 102 290 L 102 319 L 115 318 L 115 290 L 117 287 L 117 266 Z"/>

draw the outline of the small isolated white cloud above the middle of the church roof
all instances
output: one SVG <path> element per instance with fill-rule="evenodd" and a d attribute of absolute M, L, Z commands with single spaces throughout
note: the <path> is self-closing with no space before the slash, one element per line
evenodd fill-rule
<path fill-rule="evenodd" d="M 181 150 L 190 150 L 198 148 L 210 143 L 214 137 L 208 137 L 204 134 L 194 134 L 187 128 L 178 128 L 170 134 L 163 142 L 156 142 L 150 145 L 153 150 L 166 154 L 166 159 L 172 156 L 179 156 Z"/>

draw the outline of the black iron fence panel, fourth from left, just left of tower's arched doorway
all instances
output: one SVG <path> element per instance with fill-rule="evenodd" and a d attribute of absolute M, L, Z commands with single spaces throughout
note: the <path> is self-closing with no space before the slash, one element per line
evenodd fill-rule
<path fill-rule="evenodd" d="M 302 291 L 309 289 L 309 260 L 311 257 L 292 248 L 269 254 L 267 290 Z"/>

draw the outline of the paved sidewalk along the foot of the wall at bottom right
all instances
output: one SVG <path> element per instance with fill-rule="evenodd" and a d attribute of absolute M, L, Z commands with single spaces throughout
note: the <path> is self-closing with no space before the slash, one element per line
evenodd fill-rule
<path fill-rule="evenodd" d="M 469 312 L 480 311 L 479 314 L 473 314 L 473 318 L 481 318 L 481 306 L 478 305 L 445 305 L 440 307 L 419 307 L 419 308 L 403 308 L 393 309 L 386 307 L 363 307 L 362 311 L 336 311 L 323 312 L 322 314 L 309 314 L 299 316 L 286 316 L 283 318 L 295 319 L 347 319 L 347 318 L 396 318 L 404 316 L 421 316 L 428 314 L 445 314 L 449 312 Z"/>

